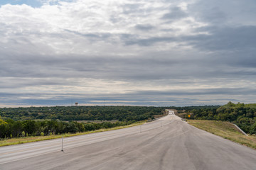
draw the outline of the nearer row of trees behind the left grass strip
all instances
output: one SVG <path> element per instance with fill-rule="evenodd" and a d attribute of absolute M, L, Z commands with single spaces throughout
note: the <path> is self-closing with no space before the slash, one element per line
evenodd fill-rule
<path fill-rule="evenodd" d="M 65 133 L 85 132 L 99 130 L 101 128 L 114 128 L 129 125 L 135 121 L 128 122 L 103 122 L 103 123 L 78 123 L 76 121 L 64 122 L 59 120 L 1 120 L 0 138 L 46 136 Z"/>

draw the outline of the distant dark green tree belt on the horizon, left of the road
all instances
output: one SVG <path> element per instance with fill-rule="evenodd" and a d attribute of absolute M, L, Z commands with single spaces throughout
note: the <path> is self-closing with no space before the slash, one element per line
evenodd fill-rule
<path fill-rule="evenodd" d="M 162 107 L 144 106 L 55 106 L 0 108 L 4 120 L 146 120 L 163 114 Z"/>

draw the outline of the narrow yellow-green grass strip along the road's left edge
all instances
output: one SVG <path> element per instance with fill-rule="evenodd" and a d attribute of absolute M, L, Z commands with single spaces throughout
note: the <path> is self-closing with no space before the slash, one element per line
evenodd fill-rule
<path fill-rule="evenodd" d="M 105 131 L 109 131 L 109 130 L 118 130 L 118 129 L 123 129 L 123 128 L 129 128 L 132 126 L 136 126 L 136 125 L 142 125 L 144 124 L 146 121 L 141 121 L 138 123 L 133 123 L 131 125 L 125 125 L 125 126 L 119 126 L 119 127 L 115 127 L 115 128 L 108 128 L 108 129 L 100 129 L 100 130 L 93 130 L 93 131 L 87 131 L 87 132 L 78 132 L 75 134 L 65 134 L 65 135 L 50 135 L 50 136 L 36 136 L 36 137 L 19 137 L 19 138 L 11 138 L 11 139 L 7 139 L 7 140 L 0 140 L 0 147 L 4 147 L 4 146 L 9 146 L 9 145 L 18 145 L 18 144 L 23 144 L 23 143 L 28 143 L 28 142 L 38 142 L 38 141 L 42 141 L 42 140 L 53 140 L 53 139 L 57 139 L 57 138 L 61 138 L 61 137 L 72 137 L 72 136 L 77 136 L 77 135 L 86 135 L 89 133 L 95 133 L 95 132 L 105 132 Z"/>

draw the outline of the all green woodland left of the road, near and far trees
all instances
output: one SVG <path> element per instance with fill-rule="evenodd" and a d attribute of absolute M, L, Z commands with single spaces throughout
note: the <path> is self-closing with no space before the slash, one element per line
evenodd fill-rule
<path fill-rule="evenodd" d="M 153 120 L 163 116 L 166 112 L 164 108 L 157 107 L 56 106 L 0 108 L 0 114 L 4 118 L 2 120 L 0 117 L 0 138 L 9 139 L 13 137 L 75 134 L 102 128 L 115 128 L 142 120 Z M 30 118 L 37 120 L 29 120 Z"/>

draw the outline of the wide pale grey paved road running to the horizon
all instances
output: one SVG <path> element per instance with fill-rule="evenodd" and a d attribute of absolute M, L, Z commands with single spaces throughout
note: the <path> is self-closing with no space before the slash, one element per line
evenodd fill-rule
<path fill-rule="evenodd" d="M 256 169 L 256 151 L 172 114 L 142 126 L 0 147 L 0 169 Z M 142 130 L 142 131 L 141 131 Z"/>

